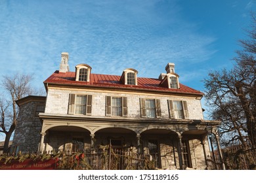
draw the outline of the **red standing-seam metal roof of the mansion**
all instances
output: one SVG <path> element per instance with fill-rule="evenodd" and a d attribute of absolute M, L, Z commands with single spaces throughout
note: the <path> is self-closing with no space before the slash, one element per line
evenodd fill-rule
<path fill-rule="evenodd" d="M 191 93 L 196 95 L 203 95 L 202 92 L 194 90 L 188 86 L 184 86 L 180 83 L 179 89 L 163 88 L 160 86 L 160 80 L 156 78 L 137 78 L 138 85 L 125 85 L 119 82 L 121 76 L 116 75 L 90 75 L 89 82 L 75 81 L 75 72 L 58 73 L 55 71 L 53 75 L 49 76 L 45 80 L 45 84 L 65 84 L 71 86 L 95 86 L 101 88 L 119 88 L 119 89 L 133 89 L 133 90 L 151 90 L 158 92 L 170 92 L 170 93 Z"/>

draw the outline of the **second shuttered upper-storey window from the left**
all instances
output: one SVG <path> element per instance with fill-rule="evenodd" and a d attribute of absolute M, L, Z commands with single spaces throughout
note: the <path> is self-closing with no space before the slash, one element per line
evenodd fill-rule
<path fill-rule="evenodd" d="M 127 97 L 106 96 L 106 116 L 127 116 Z"/>

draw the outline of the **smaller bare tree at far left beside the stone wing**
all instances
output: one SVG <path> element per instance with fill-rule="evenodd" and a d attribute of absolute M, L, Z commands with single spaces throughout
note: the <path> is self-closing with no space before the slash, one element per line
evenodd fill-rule
<path fill-rule="evenodd" d="M 5 133 L 3 153 L 9 152 L 9 141 L 17 124 L 18 106 L 15 101 L 34 92 L 31 81 L 31 75 L 20 74 L 3 76 L 1 81 L 4 90 L 0 98 L 0 132 Z"/>

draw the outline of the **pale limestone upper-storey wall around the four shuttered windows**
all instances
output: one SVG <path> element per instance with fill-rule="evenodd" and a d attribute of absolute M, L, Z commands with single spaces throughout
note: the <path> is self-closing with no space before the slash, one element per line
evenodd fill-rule
<path fill-rule="evenodd" d="M 92 116 L 105 116 L 106 96 L 127 97 L 128 116 L 127 118 L 140 118 L 140 98 L 160 99 L 161 118 L 169 119 L 169 107 L 167 100 L 186 101 L 188 105 L 189 119 L 202 120 L 202 106 L 200 100 L 195 97 L 179 97 L 167 95 L 153 95 L 141 93 L 120 93 L 111 91 L 93 90 L 70 90 L 49 88 L 45 113 L 68 114 L 68 102 L 70 93 L 81 95 L 92 95 Z"/>

